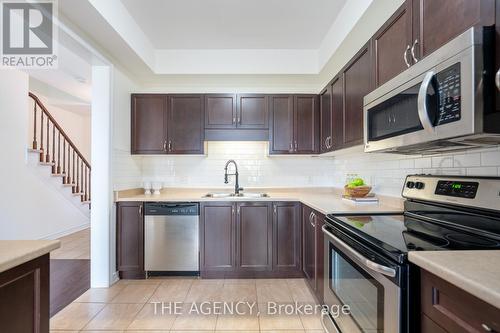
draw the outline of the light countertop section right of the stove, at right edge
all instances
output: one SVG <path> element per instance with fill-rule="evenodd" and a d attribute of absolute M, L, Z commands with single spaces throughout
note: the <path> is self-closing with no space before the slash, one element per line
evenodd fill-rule
<path fill-rule="evenodd" d="M 500 309 L 500 251 L 413 251 L 408 258 Z"/>

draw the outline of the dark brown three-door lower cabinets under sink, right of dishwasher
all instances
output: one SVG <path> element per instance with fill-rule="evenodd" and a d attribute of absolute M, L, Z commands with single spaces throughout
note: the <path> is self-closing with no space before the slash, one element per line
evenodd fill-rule
<path fill-rule="evenodd" d="M 201 276 L 302 276 L 298 212 L 298 203 L 201 203 Z"/>

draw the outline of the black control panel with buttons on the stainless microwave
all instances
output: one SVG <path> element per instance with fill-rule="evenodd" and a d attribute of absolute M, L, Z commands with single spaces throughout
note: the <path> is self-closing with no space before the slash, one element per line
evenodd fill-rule
<path fill-rule="evenodd" d="M 437 125 L 460 120 L 460 63 L 436 74 L 439 96 Z"/>

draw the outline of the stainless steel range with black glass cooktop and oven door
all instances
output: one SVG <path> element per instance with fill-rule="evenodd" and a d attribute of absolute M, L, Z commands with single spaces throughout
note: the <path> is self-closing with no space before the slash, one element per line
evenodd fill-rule
<path fill-rule="evenodd" d="M 408 252 L 500 250 L 500 178 L 412 175 L 402 194 L 402 214 L 327 216 L 324 300 L 349 307 L 327 332 L 419 332 Z"/>

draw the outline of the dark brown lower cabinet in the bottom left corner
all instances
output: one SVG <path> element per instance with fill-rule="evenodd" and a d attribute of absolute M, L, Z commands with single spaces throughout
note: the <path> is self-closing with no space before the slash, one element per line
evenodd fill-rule
<path fill-rule="evenodd" d="M 0 332 L 49 332 L 49 255 L 0 273 Z"/>

